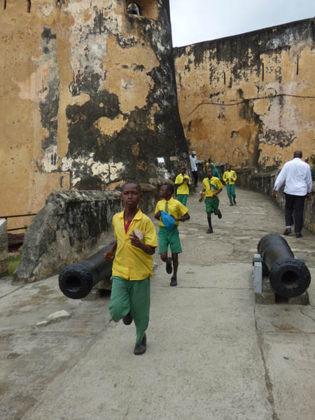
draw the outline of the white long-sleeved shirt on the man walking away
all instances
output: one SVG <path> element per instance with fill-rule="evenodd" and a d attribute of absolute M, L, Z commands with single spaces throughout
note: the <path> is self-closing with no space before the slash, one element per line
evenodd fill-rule
<path fill-rule="evenodd" d="M 284 193 L 291 195 L 307 195 L 311 193 L 313 181 L 311 181 L 311 168 L 300 158 L 294 158 L 286 162 L 276 177 L 274 190 L 278 191 L 283 182 L 286 182 Z"/>

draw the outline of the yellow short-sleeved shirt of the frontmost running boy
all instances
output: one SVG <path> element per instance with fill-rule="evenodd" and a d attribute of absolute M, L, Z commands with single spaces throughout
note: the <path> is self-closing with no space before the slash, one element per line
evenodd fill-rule
<path fill-rule="evenodd" d="M 112 275 L 126 280 L 144 280 L 153 275 L 153 257 L 130 242 L 132 232 L 137 229 L 143 234 L 141 241 L 146 245 L 158 246 L 155 227 L 139 209 L 125 232 L 124 211 L 113 216 L 113 230 L 117 239 L 117 250 L 113 260 Z"/>

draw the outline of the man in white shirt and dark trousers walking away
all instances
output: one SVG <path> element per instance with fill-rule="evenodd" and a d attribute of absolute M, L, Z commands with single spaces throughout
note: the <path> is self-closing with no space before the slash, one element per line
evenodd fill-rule
<path fill-rule="evenodd" d="M 293 160 L 286 162 L 281 169 L 280 174 L 274 183 L 274 197 L 282 186 L 284 187 L 284 194 L 286 195 L 286 230 L 283 235 L 291 233 L 291 226 L 293 225 L 293 209 L 294 209 L 294 230 L 297 238 L 302 237 L 301 230 L 303 226 L 303 210 L 305 198 L 308 200 L 311 197 L 311 169 L 307 163 L 302 161 L 302 152 L 295 151 Z"/>

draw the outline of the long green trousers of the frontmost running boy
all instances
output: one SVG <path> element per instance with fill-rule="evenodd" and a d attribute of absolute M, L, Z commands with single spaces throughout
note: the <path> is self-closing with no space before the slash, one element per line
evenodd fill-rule
<path fill-rule="evenodd" d="M 150 318 L 150 277 L 130 281 L 111 276 L 111 280 L 111 303 L 109 304 L 111 318 L 118 322 L 130 312 L 137 330 L 136 344 L 140 344 Z"/>

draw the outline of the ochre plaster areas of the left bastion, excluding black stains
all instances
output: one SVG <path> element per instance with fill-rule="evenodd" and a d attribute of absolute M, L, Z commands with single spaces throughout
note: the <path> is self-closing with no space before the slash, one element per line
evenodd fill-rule
<path fill-rule="evenodd" d="M 27 13 L 27 1 L 10 0 L 6 2 L 6 10 L 1 10 L 1 215 L 37 213 L 52 190 L 75 188 L 76 180 L 69 172 L 71 162 L 65 158 L 69 148 L 66 108 L 75 104 L 82 106 L 90 100 L 87 93 L 73 96 L 69 86 L 73 77 L 80 71 L 83 73 L 85 45 L 80 42 L 80 28 L 93 27 L 95 8 L 102 10 L 109 22 L 108 34 L 94 35 L 94 45 L 102 47 L 95 52 L 95 71 L 102 77 L 103 88 L 118 95 L 120 109 L 125 114 L 113 120 L 100 118 L 94 125 L 100 132 L 111 136 L 123 130 L 127 115 L 136 107 L 146 106 L 146 98 L 153 88 L 153 79 L 148 73 L 160 65 L 147 41 L 127 25 L 125 1 L 66 1 L 59 7 L 56 4 L 55 1 L 32 0 L 31 12 Z M 148 18 L 158 19 L 155 1 L 143 2 L 141 6 Z M 56 62 L 45 59 L 44 27 L 57 34 Z M 134 46 L 122 48 L 118 34 L 135 39 Z M 49 80 L 56 69 L 59 78 L 56 145 L 44 151 L 43 141 L 49 133 L 43 127 L 40 102 L 47 98 Z M 154 109 L 158 106 L 151 111 L 151 126 Z M 57 162 L 50 165 L 54 153 Z M 83 161 L 78 158 L 78 162 L 80 159 Z M 109 165 L 94 162 L 93 154 L 89 159 L 94 174 L 106 173 Z M 122 168 L 122 163 L 116 165 L 117 170 Z M 113 169 L 111 172 L 115 176 Z M 29 223 L 29 218 L 10 220 L 8 227 L 21 223 Z"/>

